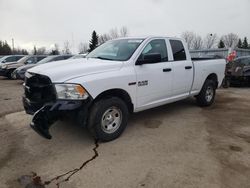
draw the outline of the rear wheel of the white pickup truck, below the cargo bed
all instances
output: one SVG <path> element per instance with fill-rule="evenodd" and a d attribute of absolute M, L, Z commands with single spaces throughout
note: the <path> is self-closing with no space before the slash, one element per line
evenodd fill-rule
<path fill-rule="evenodd" d="M 211 94 L 211 95 L 209 95 Z M 216 94 L 216 85 L 213 80 L 206 80 L 199 95 L 196 96 L 196 101 L 199 106 L 210 106 L 213 104 Z"/>

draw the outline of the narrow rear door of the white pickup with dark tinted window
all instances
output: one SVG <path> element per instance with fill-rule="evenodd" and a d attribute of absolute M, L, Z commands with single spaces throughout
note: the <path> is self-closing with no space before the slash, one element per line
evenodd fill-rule
<path fill-rule="evenodd" d="M 169 40 L 172 49 L 173 61 L 173 97 L 183 97 L 189 95 L 193 83 L 193 63 L 187 57 L 185 48 L 181 40 Z"/>

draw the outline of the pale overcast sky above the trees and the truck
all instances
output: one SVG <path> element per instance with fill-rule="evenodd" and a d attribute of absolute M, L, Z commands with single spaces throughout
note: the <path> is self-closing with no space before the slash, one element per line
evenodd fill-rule
<path fill-rule="evenodd" d="M 69 41 L 76 53 L 93 30 L 123 26 L 129 36 L 233 32 L 250 40 L 249 18 L 250 0 L 0 0 L 0 40 L 27 49 Z"/>

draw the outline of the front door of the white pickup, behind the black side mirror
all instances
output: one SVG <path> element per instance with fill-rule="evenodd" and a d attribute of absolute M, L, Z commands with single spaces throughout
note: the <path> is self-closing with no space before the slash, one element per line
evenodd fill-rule
<path fill-rule="evenodd" d="M 145 46 L 139 58 L 150 53 L 161 54 L 161 61 L 135 65 L 138 110 L 158 106 L 171 96 L 172 63 L 168 62 L 166 40 L 152 39 Z"/>

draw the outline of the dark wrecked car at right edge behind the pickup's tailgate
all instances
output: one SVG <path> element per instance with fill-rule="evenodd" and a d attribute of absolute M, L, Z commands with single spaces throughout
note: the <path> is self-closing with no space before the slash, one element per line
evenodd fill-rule
<path fill-rule="evenodd" d="M 250 56 L 235 58 L 229 62 L 226 76 L 231 85 L 250 85 Z"/>

